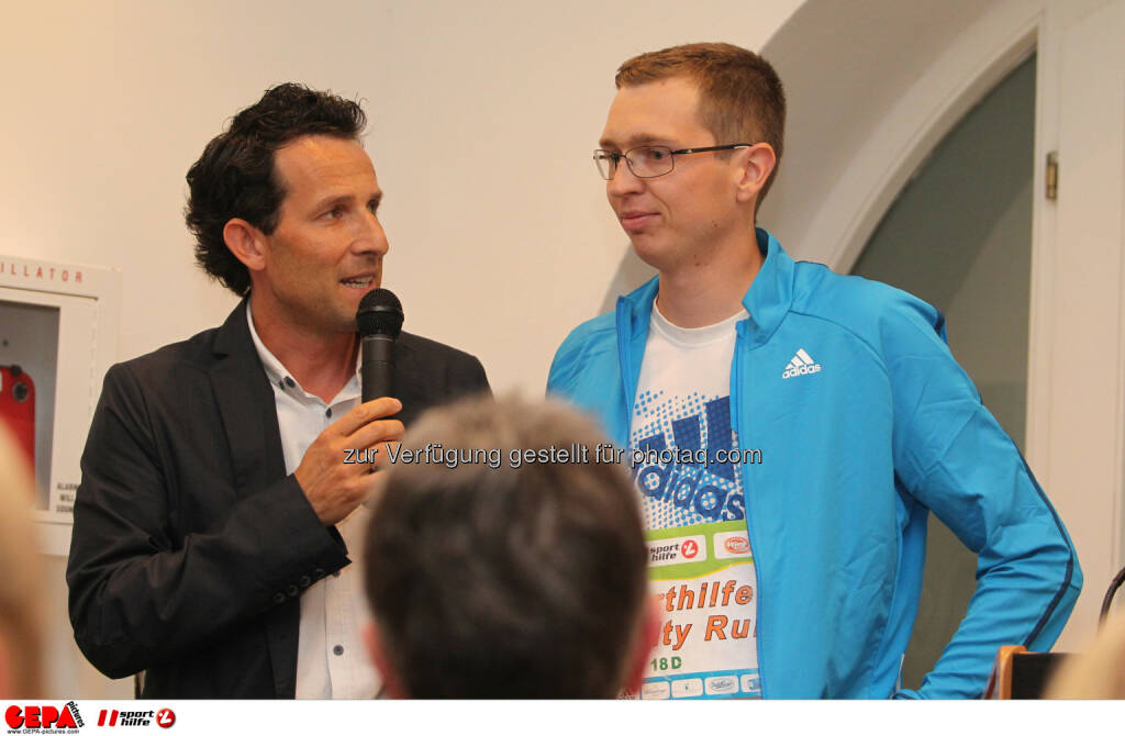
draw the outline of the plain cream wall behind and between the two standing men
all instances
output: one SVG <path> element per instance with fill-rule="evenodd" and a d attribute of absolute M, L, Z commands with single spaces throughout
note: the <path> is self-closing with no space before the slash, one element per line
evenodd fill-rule
<path fill-rule="evenodd" d="M 759 48 L 799 5 L 9 0 L 0 255 L 120 269 L 120 359 L 213 326 L 234 297 L 192 264 L 188 167 L 271 84 L 358 95 L 406 329 L 539 394 L 628 248 L 590 160 L 618 64 L 692 41 Z M 52 697 L 127 694 L 91 675 L 65 586 L 50 591 Z"/>

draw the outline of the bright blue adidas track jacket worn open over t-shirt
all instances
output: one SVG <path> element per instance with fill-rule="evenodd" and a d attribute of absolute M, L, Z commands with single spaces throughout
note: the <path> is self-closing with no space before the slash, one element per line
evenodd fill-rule
<path fill-rule="evenodd" d="M 764 230 L 757 240 L 765 262 L 742 299 L 730 400 L 740 446 L 762 450 L 742 479 L 763 695 L 978 697 L 998 646 L 1058 638 L 1082 585 L 1070 537 L 936 309 L 794 262 Z M 548 379 L 621 447 L 656 290 L 652 279 L 576 327 Z M 921 688 L 896 693 L 928 511 L 976 553 L 976 592 Z"/>

